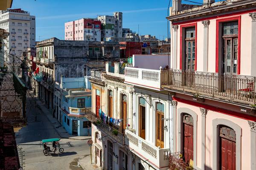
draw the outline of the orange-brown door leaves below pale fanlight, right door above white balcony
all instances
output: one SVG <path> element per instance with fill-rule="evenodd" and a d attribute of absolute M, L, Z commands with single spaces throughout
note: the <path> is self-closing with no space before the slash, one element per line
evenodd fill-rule
<path fill-rule="evenodd" d="M 157 111 L 157 142 L 156 147 L 164 147 L 164 113 Z"/>

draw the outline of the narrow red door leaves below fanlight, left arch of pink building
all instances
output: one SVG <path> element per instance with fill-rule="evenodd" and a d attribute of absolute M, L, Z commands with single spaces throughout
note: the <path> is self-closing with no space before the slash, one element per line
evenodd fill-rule
<path fill-rule="evenodd" d="M 184 161 L 189 163 L 190 159 L 193 160 L 193 126 L 183 123 L 184 136 L 183 136 L 183 151 Z"/>

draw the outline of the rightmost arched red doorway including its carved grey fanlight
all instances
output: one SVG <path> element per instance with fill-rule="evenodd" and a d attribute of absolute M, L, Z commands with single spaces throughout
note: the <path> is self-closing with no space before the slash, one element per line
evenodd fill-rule
<path fill-rule="evenodd" d="M 219 126 L 219 168 L 236 170 L 236 132 L 230 127 Z"/>

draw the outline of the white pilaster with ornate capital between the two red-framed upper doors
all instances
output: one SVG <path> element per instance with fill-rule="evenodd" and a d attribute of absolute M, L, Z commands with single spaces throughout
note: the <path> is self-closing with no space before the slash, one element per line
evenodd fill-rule
<path fill-rule="evenodd" d="M 202 21 L 204 24 L 204 48 L 203 48 L 203 71 L 208 71 L 208 33 L 209 33 L 209 20 Z"/>

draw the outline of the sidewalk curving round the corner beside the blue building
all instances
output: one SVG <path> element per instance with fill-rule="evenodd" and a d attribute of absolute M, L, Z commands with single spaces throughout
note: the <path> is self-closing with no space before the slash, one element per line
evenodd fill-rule
<path fill-rule="evenodd" d="M 47 116 L 47 119 L 49 120 L 49 122 L 52 123 L 52 126 L 54 127 L 54 129 L 57 131 L 58 135 L 61 138 L 76 139 L 76 140 L 91 139 L 91 136 L 74 136 L 74 135 L 70 135 L 69 133 L 67 133 L 67 131 L 64 129 L 64 127 L 61 126 L 60 122 L 58 122 L 57 119 L 52 117 L 52 113 L 50 113 L 49 109 L 47 109 L 44 105 L 42 105 L 41 101 L 37 100 L 36 104 L 37 104 L 38 108 L 43 112 L 43 114 L 45 116 Z"/>

